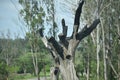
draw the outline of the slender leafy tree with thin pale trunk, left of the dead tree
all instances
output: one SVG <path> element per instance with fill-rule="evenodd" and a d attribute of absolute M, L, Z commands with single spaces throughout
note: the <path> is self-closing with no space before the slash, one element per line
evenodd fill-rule
<path fill-rule="evenodd" d="M 39 80 L 39 64 L 38 64 L 38 52 L 41 51 L 41 45 L 40 39 L 38 38 L 38 35 L 36 34 L 37 30 L 39 28 L 44 28 L 44 16 L 45 12 L 42 8 L 43 4 L 42 1 L 37 0 L 31 0 L 31 1 L 24 1 L 19 0 L 19 3 L 23 6 L 23 9 L 20 11 L 20 14 L 22 15 L 24 21 L 27 24 L 29 32 L 27 33 L 27 38 L 29 40 L 31 52 L 32 52 L 32 59 L 33 59 L 33 65 L 35 69 L 35 75 L 38 76 Z M 41 58 L 41 57 L 40 57 Z"/>

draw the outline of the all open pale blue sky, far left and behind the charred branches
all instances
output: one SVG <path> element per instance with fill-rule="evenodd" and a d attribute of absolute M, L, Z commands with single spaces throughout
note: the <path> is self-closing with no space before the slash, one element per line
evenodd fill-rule
<path fill-rule="evenodd" d="M 68 35 L 72 33 L 73 26 L 73 16 L 72 14 L 63 10 L 63 6 L 61 6 L 61 2 L 64 0 L 57 0 L 56 2 L 56 21 L 59 26 L 59 31 L 61 31 L 61 19 L 64 18 L 66 20 L 66 24 L 69 26 Z M 7 34 L 8 30 L 10 31 L 10 36 L 12 38 L 15 35 L 19 35 L 19 37 L 24 38 L 25 36 L 25 26 L 21 24 L 19 21 L 19 10 L 21 9 L 21 5 L 18 3 L 18 0 L 0 0 L 0 37 L 1 33 Z"/>

